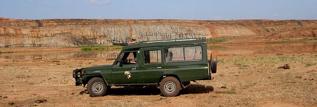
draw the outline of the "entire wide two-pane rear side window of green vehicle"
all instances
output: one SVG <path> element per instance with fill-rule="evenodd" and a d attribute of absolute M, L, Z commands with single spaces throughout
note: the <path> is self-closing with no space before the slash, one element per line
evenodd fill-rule
<path fill-rule="evenodd" d="M 165 62 L 187 62 L 202 60 L 202 47 L 192 46 L 173 46 L 164 48 Z"/>

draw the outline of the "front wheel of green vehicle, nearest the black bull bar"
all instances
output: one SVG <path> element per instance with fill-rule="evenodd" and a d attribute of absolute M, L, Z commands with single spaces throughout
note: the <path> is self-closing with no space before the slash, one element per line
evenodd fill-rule
<path fill-rule="evenodd" d="M 87 84 L 88 93 L 92 97 L 100 97 L 106 94 L 108 86 L 104 83 L 104 81 L 99 77 L 94 77 L 89 80 Z"/>

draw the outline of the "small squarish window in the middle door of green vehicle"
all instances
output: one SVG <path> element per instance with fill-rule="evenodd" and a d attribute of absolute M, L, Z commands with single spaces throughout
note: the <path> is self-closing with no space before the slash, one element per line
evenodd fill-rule
<path fill-rule="evenodd" d="M 161 50 L 145 50 L 144 64 L 161 63 Z"/>

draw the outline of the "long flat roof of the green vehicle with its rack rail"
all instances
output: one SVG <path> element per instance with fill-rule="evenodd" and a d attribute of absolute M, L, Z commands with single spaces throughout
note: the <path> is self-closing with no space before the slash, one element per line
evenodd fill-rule
<path fill-rule="evenodd" d="M 157 46 L 174 46 L 188 44 L 206 44 L 206 38 L 177 39 L 177 40 L 160 40 L 160 41 L 143 41 L 126 45 L 123 49 L 157 47 Z"/>

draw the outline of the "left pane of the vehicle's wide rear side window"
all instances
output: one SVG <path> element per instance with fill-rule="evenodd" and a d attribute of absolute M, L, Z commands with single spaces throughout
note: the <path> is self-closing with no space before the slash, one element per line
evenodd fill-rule
<path fill-rule="evenodd" d="M 184 61 L 183 46 L 166 47 L 164 52 L 165 62 Z"/>

